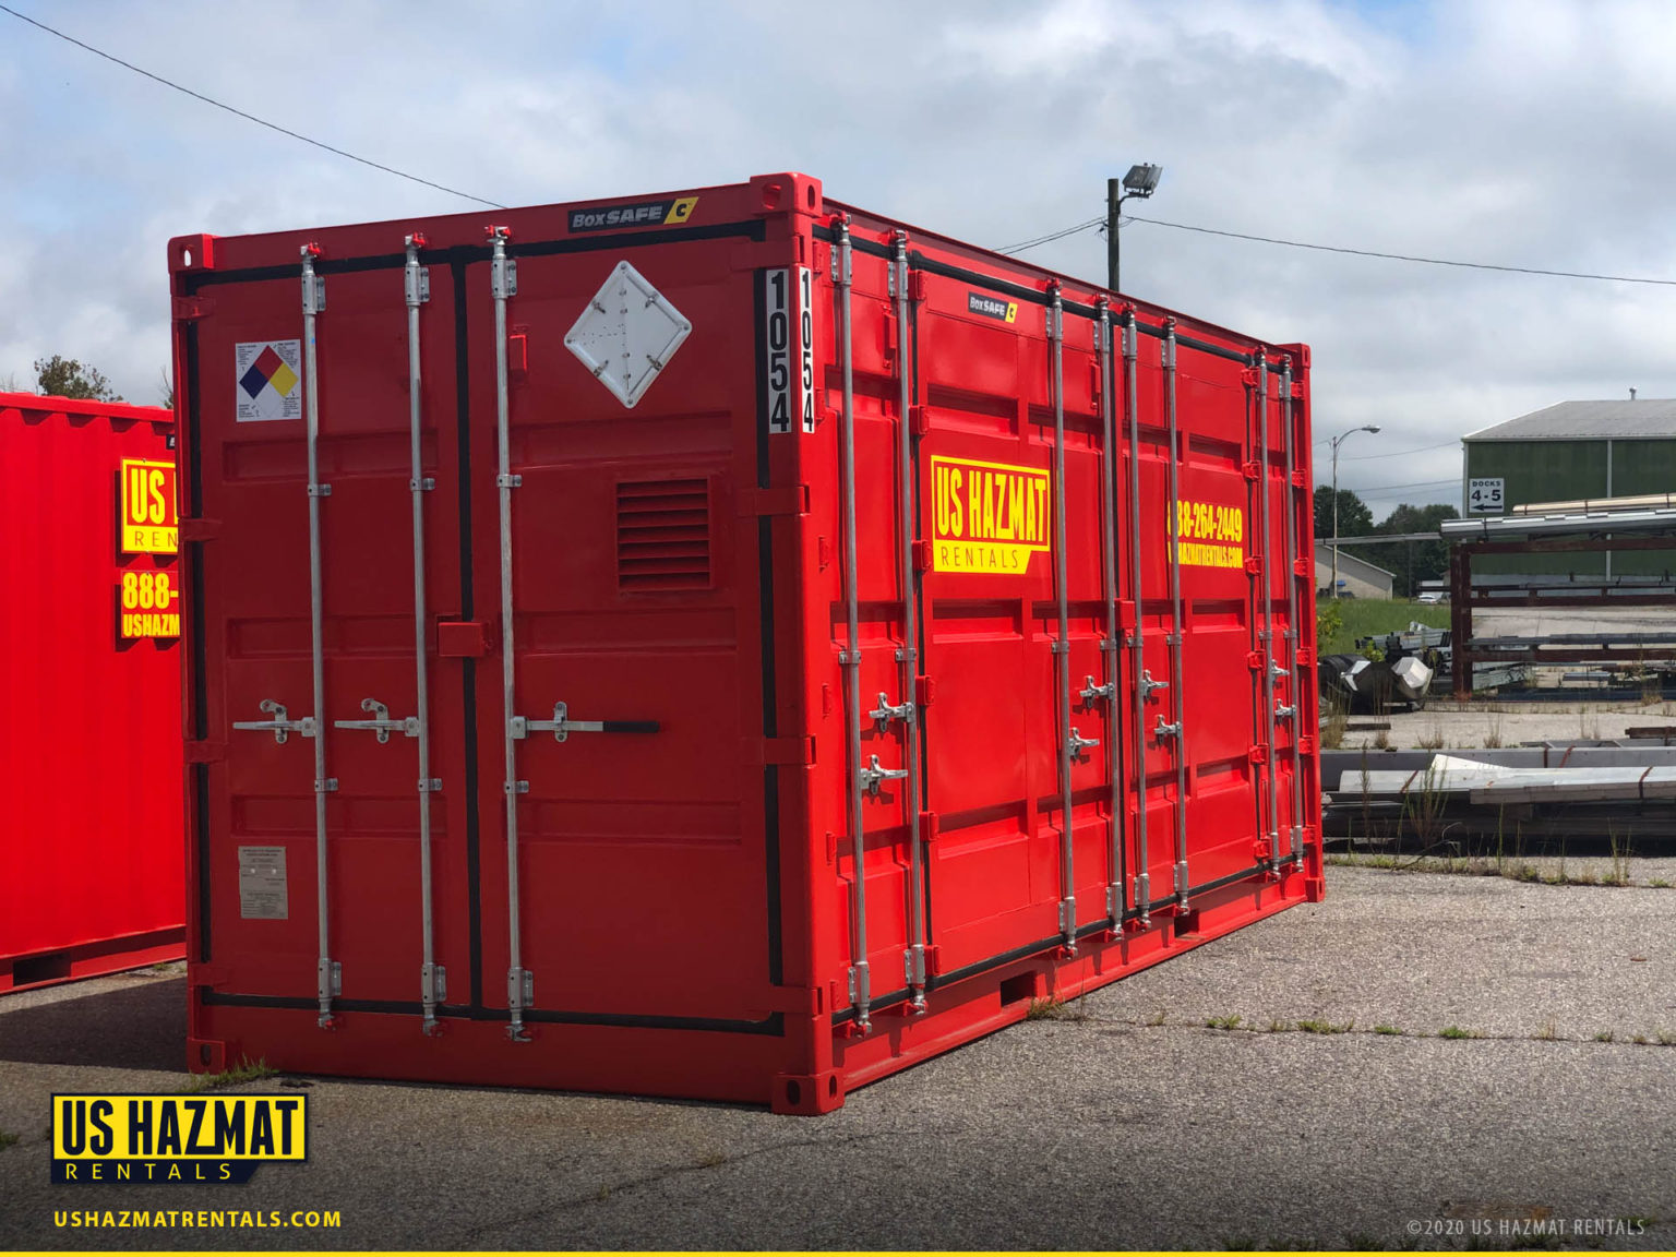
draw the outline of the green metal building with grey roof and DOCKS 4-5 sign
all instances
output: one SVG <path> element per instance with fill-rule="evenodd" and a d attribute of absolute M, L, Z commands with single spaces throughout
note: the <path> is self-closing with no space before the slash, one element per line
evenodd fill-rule
<path fill-rule="evenodd" d="M 1676 399 L 1559 402 L 1461 437 L 1461 515 L 1529 503 L 1676 493 Z M 1676 573 L 1676 551 L 1483 556 L 1473 572 L 1602 577 Z"/>

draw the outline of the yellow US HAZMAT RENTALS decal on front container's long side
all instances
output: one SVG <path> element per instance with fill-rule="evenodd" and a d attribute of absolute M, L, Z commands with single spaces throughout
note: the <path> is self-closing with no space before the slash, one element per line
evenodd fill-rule
<path fill-rule="evenodd" d="M 932 568 L 1024 575 L 1048 551 L 1049 479 L 1044 469 L 964 458 L 932 458 Z"/>

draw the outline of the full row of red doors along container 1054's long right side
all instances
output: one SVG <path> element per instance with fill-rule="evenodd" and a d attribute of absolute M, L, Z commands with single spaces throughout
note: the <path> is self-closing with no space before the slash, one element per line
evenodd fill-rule
<path fill-rule="evenodd" d="M 923 773 L 918 885 L 903 783 L 887 781 L 863 808 L 868 959 L 887 975 L 875 991 L 887 992 L 915 942 L 915 895 L 932 972 L 947 974 L 1064 937 L 1061 912 L 1088 932 L 1115 913 L 1185 907 L 1260 873 L 1264 841 L 1285 856 L 1301 825 L 1287 712 L 1302 709 L 1289 617 L 1304 595 L 1289 598 L 1284 548 L 1297 518 L 1284 422 L 1296 416 L 1279 402 L 1279 379 L 1259 394 L 1244 364 L 1187 349 L 1172 379 L 1151 337 L 1138 339 L 1131 391 L 1121 354 L 1103 359 L 1091 320 L 1076 317 L 1064 320 L 1054 379 L 1041 310 L 999 328 L 969 313 L 982 303 L 964 288 L 952 302 L 935 278 L 925 290 L 903 339 L 923 416 L 912 494 L 900 493 L 895 407 L 863 397 L 856 414 L 858 550 L 872 556 L 861 565 L 860 766 L 877 756 L 885 769 L 908 768 L 918 756 Z M 868 389 L 880 392 L 892 397 Z M 1103 406 L 1115 411 L 1110 453 Z M 922 546 L 907 595 L 893 561 L 902 530 Z M 915 598 L 923 677 L 912 747 L 898 726 L 873 721 L 907 692 L 905 597 Z M 1074 747 L 1069 850 L 1064 741 Z"/>

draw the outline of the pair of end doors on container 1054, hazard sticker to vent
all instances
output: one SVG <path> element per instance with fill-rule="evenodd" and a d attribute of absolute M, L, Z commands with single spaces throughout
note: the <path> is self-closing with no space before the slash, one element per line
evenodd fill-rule
<path fill-rule="evenodd" d="M 203 515 L 220 521 L 201 649 L 220 679 L 208 719 L 226 731 L 204 877 L 210 910 L 231 918 L 208 957 L 223 996 L 417 1012 L 429 959 L 444 1019 L 506 1017 L 515 980 L 536 1034 L 768 1017 L 761 768 L 753 796 L 737 754 L 751 711 L 761 727 L 741 667 L 758 556 L 736 555 L 732 510 L 734 426 L 754 422 L 732 399 L 754 397 L 756 364 L 726 335 L 751 325 L 753 290 L 696 250 L 635 255 L 694 332 L 634 411 L 565 350 L 613 253 L 520 258 L 504 295 L 486 256 L 421 258 L 417 379 L 404 268 L 322 265 L 312 489 L 295 278 L 250 283 L 236 323 L 201 323 Z M 233 365 L 256 359 L 297 402 L 246 419 Z M 754 520 L 747 535 L 754 546 Z"/>

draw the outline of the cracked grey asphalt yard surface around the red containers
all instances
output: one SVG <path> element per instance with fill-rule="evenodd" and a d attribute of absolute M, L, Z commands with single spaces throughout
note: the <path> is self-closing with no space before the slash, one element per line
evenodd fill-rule
<path fill-rule="evenodd" d="M 49 1185 L 54 1091 L 181 1086 L 184 984 L 25 992 L 0 999 L 0 1130 L 22 1136 L 0 1150 L 0 1245 L 1461 1249 L 1559 1227 L 1567 1247 L 1669 1249 L 1671 893 L 1332 866 L 1324 903 L 828 1118 L 290 1079 L 310 1160 L 236 1188 Z M 344 1225 L 54 1225 L 89 1207 L 334 1208 Z M 1580 1220 L 1616 1234 L 1580 1240 Z"/>

